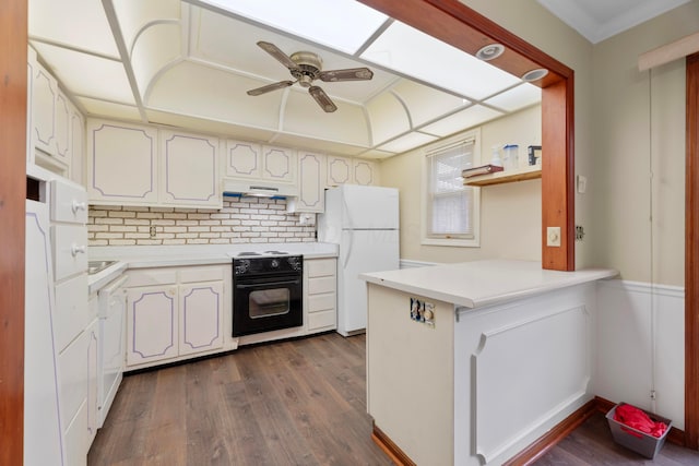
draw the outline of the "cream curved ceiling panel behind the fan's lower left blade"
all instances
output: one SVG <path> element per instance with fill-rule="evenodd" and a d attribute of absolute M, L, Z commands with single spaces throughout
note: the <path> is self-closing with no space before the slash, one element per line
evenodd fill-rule
<path fill-rule="evenodd" d="M 262 84 L 249 77 L 183 61 L 159 75 L 152 85 L 146 106 L 191 117 L 276 129 L 283 93 L 258 97 L 246 94 L 246 89 Z"/>

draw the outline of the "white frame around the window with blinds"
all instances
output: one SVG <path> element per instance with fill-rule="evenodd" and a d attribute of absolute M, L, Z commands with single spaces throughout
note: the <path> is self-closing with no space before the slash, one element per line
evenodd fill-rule
<path fill-rule="evenodd" d="M 475 128 L 459 135 L 447 138 L 440 140 L 436 143 L 429 144 L 424 147 L 423 151 L 423 182 L 420 190 L 420 211 L 422 211 L 422 227 L 420 227 L 420 244 L 423 246 L 447 246 L 447 247 L 458 247 L 458 248 L 479 248 L 481 247 L 481 188 L 478 187 L 467 187 L 466 189 L 473 190 L 473 212 L 472 212 L 472 220 L 473 220 L 473 237 L 472 238 L 449 238 L 448 235 L 443 235 L 443 237 L 434 237 L 427 234 L 428 225 L 431 224 L 431 218 L 428 217 L 429 201 L 429 183 L 430 183 L 430 160 L 429 154 L 435 153 L 443 147 L 453 146 L 459 144 L 460 142 L 467 141 L 474 139 L 473 146 L 473 165 L 481 165 L 481 128 Z"/>

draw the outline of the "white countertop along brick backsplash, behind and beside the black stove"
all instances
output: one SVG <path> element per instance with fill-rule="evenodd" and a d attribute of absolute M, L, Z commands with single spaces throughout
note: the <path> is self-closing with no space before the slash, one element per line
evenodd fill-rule
<path fill-rule="evenodd" d="M 90 261 L 118 261 L 88 276 L 88 290 L 95 292 L 127 268 L 177 267 L 229 264 L 242 251 L 286 251 L 304 259 L 336 258 L 337 244 L 328 242 L 264 242 L 245 244 L 185 246 L 96 246 L 87 248 Z"/>

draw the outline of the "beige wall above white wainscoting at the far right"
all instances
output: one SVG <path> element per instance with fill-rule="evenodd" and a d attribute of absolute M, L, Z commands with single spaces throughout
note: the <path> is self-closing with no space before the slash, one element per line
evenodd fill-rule
<path fill-rule="evenodd" d="M 684 286 L 684 60 L 650 72 L 639 72 L 637 61 L 697 31 L 692 1 L 594 48 L 591 239 L 594 262 L 625 279 Z"/>

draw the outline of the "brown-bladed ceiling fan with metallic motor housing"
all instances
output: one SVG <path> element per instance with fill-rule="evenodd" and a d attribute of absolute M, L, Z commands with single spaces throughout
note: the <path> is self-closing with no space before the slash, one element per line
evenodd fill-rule
<path fill-rule="evenodd" d="M 368 68 L 321 71 L 322 60 L 318 55 L 310 51 L 297 51 L 289 57 L 274 44 L 260 40 L 258 46 L 288 68 L 296 81 L 280 81 L 279 83 L 268 84 L 266 86 L 248 91 L 248 95 L 258 96 L 299 83 L 301 87 L 308 87 L 308 93 L 316 99 L 320 108 L 327 112 L 332 112 L 337 107 L 322 88 L 313 85 L 313 81 L 320 80 L 332 83 L 336 81 L 367 81 L 374 77 L 374 72 Z"/>

